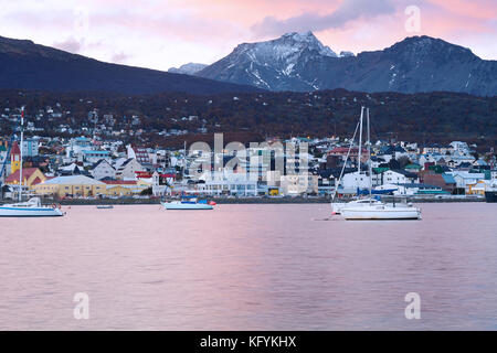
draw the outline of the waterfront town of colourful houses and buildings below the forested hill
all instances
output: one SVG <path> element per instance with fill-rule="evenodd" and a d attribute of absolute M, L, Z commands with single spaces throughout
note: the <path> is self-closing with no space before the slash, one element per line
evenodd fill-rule
<path fill-rule="evenodd" d="M 47 107 L 44 114 L 60 113 Z M 2 118 L 19 125 L 17 110 L 4 109 Z M 28 121 L 31 136 L 22 146 L 15 135 L 1 138 L 2 199 L 19 193 L 21 148 L 22 193 L 54 200 L 184 193 L 212 197 L 330 197 L 337 193 L 347 197 L 369 186 L 367 160 L 372 188 L 392 195 L 483 197 L 497 183 L 495 151 L 477 153 L 477 146 L 463 141 L 377 140 L 371 142 L 369 159 L 368 150 L 359 150 L 347 137 L 273 137 L 242 150 L 224 145 L 205 153 L 195 143 L 181 149 L 125 145 L 113 133 L 114 117 L 98 118 L 91 110 L 88 120 L 94 127 L 77 131 L 84 133 L 80 137 L 43 136 L 43 129 Z M 163 139 L 177 133 L 163 131 Z M 287 148 L 278 151 L 276 145 Z M 289 151 L 289 146 L 298 152 Z"/>

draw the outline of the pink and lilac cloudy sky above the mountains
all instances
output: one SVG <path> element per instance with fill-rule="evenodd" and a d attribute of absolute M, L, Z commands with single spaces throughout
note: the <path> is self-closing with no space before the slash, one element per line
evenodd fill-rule
<path fill-rule="evenodd" d="M 497 60 L 496 0 L 0 0 L 0 36 L 161 71 L 309 30 L 337 53 L 431 35 Z"/>

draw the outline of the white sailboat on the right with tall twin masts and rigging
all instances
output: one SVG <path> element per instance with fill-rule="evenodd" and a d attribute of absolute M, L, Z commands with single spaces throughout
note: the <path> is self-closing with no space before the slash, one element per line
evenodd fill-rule
<path fill-rule="evenodd" d="M 359 130 L 360 130 L 359 152 L 358 152 L 359 174 L 361 164 L 363 111 L 364 107 L 361 108 L 361 117 L 359 121 Z M 336 205 L 332 203 L 334 213 L 341 214 L 346 220 L 421 220 L 421 210 L 419 207 L 413 206 L 412 204 L 395 204 L 395 203 L 387 204 L 372 197 L 371 133 L 370 133 L 369 109 L 367 109 L 367 129 L 368 129 L 367 146 L 368 146 L 368 165 L 369 165 L 369 188 L 368 188 L 369 197 L 351 201 L 346 204 L 340 204 L 339 207 L 336 207 Z M 350 148 L 352 147 L 356 132 L 353 133 Z M 348 156 L 349 153 L 347 154 L 347 158 Z M 335 201 L 335 195 L 336 193 L 334 194 L 332 201 Z M 336 210 L 338 210 L 338 212 Z"/>

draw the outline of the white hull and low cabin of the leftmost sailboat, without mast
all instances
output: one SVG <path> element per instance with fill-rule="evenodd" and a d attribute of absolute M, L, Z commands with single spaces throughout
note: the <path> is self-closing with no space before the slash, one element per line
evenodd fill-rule
<path fill-rule="evenodd" d="M 0 217 L 60 217 L 63 215 L 61 205 L 43 206 L 40 197 L 0 206 Z"/>

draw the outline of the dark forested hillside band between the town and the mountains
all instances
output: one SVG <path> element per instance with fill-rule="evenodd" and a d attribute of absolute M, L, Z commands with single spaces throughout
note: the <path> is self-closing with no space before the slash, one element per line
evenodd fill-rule
<path fill-rule="evenodd" d="M 60 108 L 55 107 L 59 103 Z M 198 139 L 194 132 L 233 132 L 239 140 L 265 137 L 338 135 L 348 137 L 360 114 L 371 111 L 374 138 L 402 139 L 420 143 L 464 140 L 480 147 L 497 145 L 497 97 L 476 97 L 456 93 L 377 93 L 345 89 L 314 93 L 244 93 L 220 95 L 156 94 L 126 96 L 99 93 L 46 93 L 0 90 L 0 109 L 24 105 L 28 117 L 51 106 L 63 116 L 35 124 L 51 135 L 61 124 L 73 128 L 92 126 L 88 111 L 99 117 L 113 114 L 114 129 L 129 128 L 133 116 L 140 118 L 134 130 L 142 129 L 150 142 L 182 143 Z M 68 111 L 68 113 L 67 113 Z M 189 117 L 193 117 L 189 119 Z M 12 122 L 1 119 L 2 133 Z M 157 136 L 157 131 L 188 129 L 184 137 Z M 55 133 L 56 135 L 56 133 Z"/>

